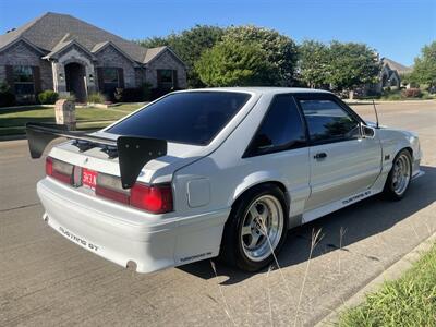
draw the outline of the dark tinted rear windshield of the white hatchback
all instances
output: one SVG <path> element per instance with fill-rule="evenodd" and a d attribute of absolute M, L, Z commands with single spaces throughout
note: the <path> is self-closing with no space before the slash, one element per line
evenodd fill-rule
<path fill-rule="evenodd" d="M 233 92 L 177 93 L 137 111 L 107 132 L 206 145 L 249 98 L 249 94 Z"/>

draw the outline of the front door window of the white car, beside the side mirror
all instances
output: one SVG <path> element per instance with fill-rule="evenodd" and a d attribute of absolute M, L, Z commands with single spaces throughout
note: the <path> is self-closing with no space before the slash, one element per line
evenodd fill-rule
<path fill-rule="evenodd" d="M 358 138 L 359 122 L 332 100 L 300 100 L 311 141 L 316 143 Z"/>

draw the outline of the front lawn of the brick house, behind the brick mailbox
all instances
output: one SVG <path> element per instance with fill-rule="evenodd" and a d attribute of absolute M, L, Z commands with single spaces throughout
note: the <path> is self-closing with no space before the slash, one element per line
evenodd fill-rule
<path fill-rule="evenodd" d="M 138 109 L 140 104 L 128 104 L 107 109 L 76 108 L 77 128 L 104 128 Z M 23 134 L 27 122 L 55 122 L 55 108 L 0 109 L 0 135 Z M 95 122 L 95 123 L 93 123 Z M 97 123 L 98 122 L 98 123 Z"/>

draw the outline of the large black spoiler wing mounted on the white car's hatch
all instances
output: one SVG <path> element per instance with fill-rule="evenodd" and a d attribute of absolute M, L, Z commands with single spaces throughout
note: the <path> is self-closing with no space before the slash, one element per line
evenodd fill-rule
<path fill-rule="evenodd" d="M 123 189 L 132 187 L 144 166 L 153 159 L 165 156 L 168 148 L 166 140 L 119 136 L 114 141 L 86 132 L 68 131 L 66 125 L 47 123 L 27 123 L 26 134 L 31 156 L 34 159 L 40 158 L 47 145 L 58 137 L 74 140 L 73 145 L 81 152 L 102 146 L 109 158 L 118 157 Z"/>

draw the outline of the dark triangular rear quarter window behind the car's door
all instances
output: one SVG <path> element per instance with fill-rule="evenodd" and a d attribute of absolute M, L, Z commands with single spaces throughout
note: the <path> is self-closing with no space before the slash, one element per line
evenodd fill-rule
<path fill-rule="evenodd" d="M 295 101 L 289 95 L 278 95 L 272 99 L 246 156 L 298 148 L 305 144 L 305 131 Z"/>

